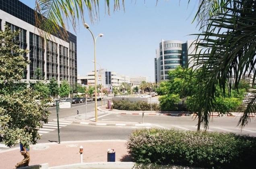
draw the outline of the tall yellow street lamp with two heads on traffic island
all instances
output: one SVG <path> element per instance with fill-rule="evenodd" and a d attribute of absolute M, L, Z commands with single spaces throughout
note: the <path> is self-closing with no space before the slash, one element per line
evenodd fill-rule
<path fill-rule="evenodd" d="M 90 32 L 89 25 L 87 23 L 84 23 L 85 28 L 87 28 Z M 91 36 L 93 36 L 93 32 L 91 32 Z M 100 33 L 96 38 L 93 36 L 93 45 L 94 45 L 94 77 L 95 77 L 95 121 L 97 121 L 97 72 L 96 72 L 96 40 L 98 37 L 102 37 L 103 34 Z"/>

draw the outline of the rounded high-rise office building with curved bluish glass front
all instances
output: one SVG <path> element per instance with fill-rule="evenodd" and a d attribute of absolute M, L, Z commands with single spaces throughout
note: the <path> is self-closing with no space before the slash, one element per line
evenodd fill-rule
<path fill-rule="evenodd" d="M 185 43 L 179 40 L 163 40 L 156 49 L 154 58 L 155 82 L 168 80 L 168 71 L 174 70 L 178 66 L 191 67 L 192 62 L 188 54 L 195 52 L 194 40 L 187 40 Z"/>

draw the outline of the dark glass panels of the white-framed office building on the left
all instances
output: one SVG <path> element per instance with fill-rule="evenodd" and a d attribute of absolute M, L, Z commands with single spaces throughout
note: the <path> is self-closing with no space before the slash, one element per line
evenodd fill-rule
<path fill-rule="evenodd" d="M 19 0 L 0 0 L 0 10 L 19 18 L 28 24 L 31 24 L 35 26 L 35 11 L 32 8 L 29 8 L 29 6 L 23 4 Z M 3 18 L 2 18 L 3 19 Z M 0 16 L 1 21 L 1 16 Z M 11 21 L 8 21 L 11 22 Z M 58 44 L 47 40 L 47 46 L 46 46 L 46 52 L 47 52 L 47 59 L 44 60 L 43 53 L 43 40 L 40 36 L 33 34 L 33 32 L 29 32 L 29 37 L 26 37 L 27 30 L 21 29 L 18 26 L 19 25 L 13 25 L 12 23 L 2 23 L 0 22 L 0 28 L 2 24 L 9 24 L 12 30 L 21 30 L 19 37 L 20 41 L 20 47 L 23 49 L 27 48 L 27 43 L 29 43 L 29 49 L 31 50 L 29 54 L 29 58 L 31 60 L 30 66 L 30 78 L 34 78 L 34 70 L 35 68 L 39 67 L 43 73 L 43 77 L 46 73 L 47 80 L 50 80 L 51 78 L 58 78 Z M 70 50 L 68 51 L 68 48 L 62 46 L 60 47 L 60 54 L 62 53 L 62 58 L 60 58 L 60 61 L 62 64 L 60 64 L 60 80 L 68 80 L 68 62 L 70 64 L 69 72 L 70 72 L 70 85 L 74 85 L 77 81 L 77 45 L 76 45 L 76 36 L 74 34 L 71 34 L 68 32 L 68 40 L 62 38 L 59 34 L 54 34 L 54 36 L 66 41 L 69 43 Z M 29 42 L 26 42 L 26 40 L 29 39 Z M 70 60 L 67 60 L 69 52 Z M 26 57 L 26 55 L 24 55 Z M 46 69 L 44 70 L 44 64 L 46 62 Z M 64 64 L 65 63 L 65 64 Z M 24 72 L 24 78 L 26 78 L 27 70 Z"/>

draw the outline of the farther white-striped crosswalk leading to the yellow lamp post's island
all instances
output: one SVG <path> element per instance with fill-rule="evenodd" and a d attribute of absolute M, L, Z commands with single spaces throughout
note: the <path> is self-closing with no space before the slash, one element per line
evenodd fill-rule
<path fill-rule="evenodd" d="M 100 115 L 103 115 L 103 114 L 106 114 L 106 113 L 101 112 L 101 111 L 97 112 L 98 117 Z M 95 117 L 95 111 L 91 111 L 91 112 L 88 112 L 88 113 L 79 114 L 78 116 L 74 115 L 74 116 L 65 117 L 65 118 L 59 119 L 59 120 L 62 121 L 62 122 L 64 122 L 64 121 L 66 121 L 66 122 L 71 121 L 72 122 L 72 121 L 77 121 L 78 118 L 79 118 L 79 120 L 93 120 L 94 117 Z M 93 119 L 91 119 L 91 118 L 93 118 Z"/>

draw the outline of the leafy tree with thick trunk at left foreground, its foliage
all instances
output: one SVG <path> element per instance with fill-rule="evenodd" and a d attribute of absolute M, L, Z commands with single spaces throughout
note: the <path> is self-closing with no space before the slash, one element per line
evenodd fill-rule
<path fill-rule="evenodd" d="M 29 61 L 23 57 L 28 50 L 19 48 L 18 35 L 8 26 L 0 30 L 0 142 L 28 147 L 41 138 L 38 131 L 50 111 L 44 104 L 37 105 L 38 95 L 20 82 Z"/>

